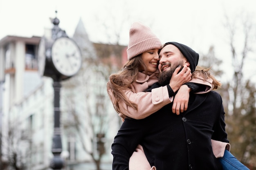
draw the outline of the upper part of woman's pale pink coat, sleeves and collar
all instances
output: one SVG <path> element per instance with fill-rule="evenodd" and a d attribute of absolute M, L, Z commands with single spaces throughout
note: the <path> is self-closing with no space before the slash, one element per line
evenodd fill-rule
<path fill-rule="evenodd" d="M 167 86 L 154 88 L 152 89 L 151 93 L 141 92 L 151 86 L 154 82 L 157 82 L 157 77 L 155 75 L 147 76 L 145 78 L 144 74 L 140 73 L 138 79 L 139 80 L 131 85 L 132 89 L 125 91 L 128 99 L 137 104 L 138 110 L 128 107 L 124 102 L 120 101 L 119 107 L 121 110 L 121 114 L 124 114 L 133 119 L 144 119 L 149 115 L 155 113 L 166 104 L 173 102 L 173 97 L 169 98 Z M 211 91 L 211 79 L 207 79 L 207 81 L 204 81 L 203 79 L 193 78 L 190 82 L 204 84 L 208 86 L 206 91 L 199 93 L 207 93 Z M 108 92 L 110 94 L 110 99 L 113 102 L 115 99 L 109 89 Z"/>

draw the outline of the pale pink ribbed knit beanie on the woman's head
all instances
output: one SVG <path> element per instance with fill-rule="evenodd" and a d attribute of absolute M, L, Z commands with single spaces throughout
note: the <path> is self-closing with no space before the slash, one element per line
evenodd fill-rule
<path fill-rule="evenodd" d="M 130 28 L 130 40 L 127 49 L 128 60 L 151 49 L 160 49 L 161 41 L 148 26 L 134 22 Z"/>

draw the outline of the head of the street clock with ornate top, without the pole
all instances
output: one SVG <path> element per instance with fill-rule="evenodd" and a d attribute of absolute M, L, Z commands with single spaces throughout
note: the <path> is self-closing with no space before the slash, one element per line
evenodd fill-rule
<path fill-rule="evenodd" d="M 58 27 L 58 18 L 52 22 L 52 38 L 42 37 L 39 42 L 38 72 L 41 76 L 61 81 L 79 71 L 82 64 L 81 51 L 76 42 Z"/>

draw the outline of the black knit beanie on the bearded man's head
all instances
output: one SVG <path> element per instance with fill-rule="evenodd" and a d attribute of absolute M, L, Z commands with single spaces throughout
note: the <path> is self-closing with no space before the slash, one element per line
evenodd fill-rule
<path fill-rule="evenodd" d="M 180 52 L 184 55 L 184 57 L 186 57 L 186 59 L 189 61 L 189 64 L 190 64 L 189 67 L 191 69 L 191 73 L 193 73 L 195 71 L 195 67 L 198 65 L 199 54 L 196 53 L 194 50 L 192 50 L 190 47 L 188 47 L 184 44 L 177 43 L 177 42 L 166 42 L 163 45 L 163 47 L 168 44 L 172 44 L 180 50 Z M 160 53 L 162 48 L 159 49 L 158 53 Z"/>

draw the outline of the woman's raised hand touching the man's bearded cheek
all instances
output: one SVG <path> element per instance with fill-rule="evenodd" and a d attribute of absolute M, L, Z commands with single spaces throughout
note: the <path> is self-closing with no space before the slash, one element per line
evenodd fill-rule
<path fill-rule="evenodd" d="M 170 86 L 173 89 L 173 92 L 175 93 L 177 90 L 179 90 L 180 86 L 182 86 L 184 83 L 189 82 L 191 80 L 191 70 L 186 65 L 183 65 L 184 67 L 180 71 L 181 67 L 177 67 L 175 71 L 173 72 L 173 75 L 170 80 Z M 178 73 L 180 71 L 180 73 Z"/>

